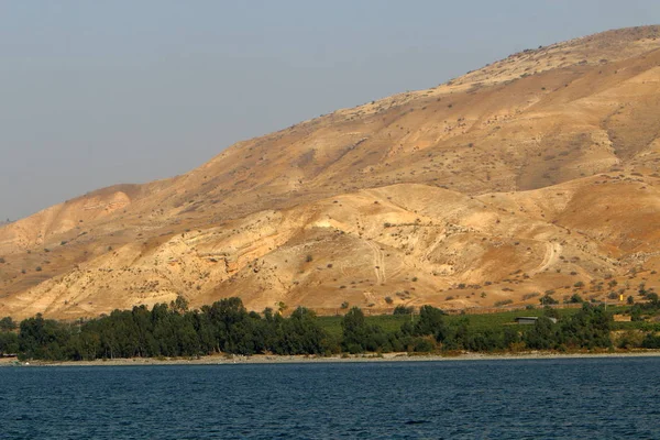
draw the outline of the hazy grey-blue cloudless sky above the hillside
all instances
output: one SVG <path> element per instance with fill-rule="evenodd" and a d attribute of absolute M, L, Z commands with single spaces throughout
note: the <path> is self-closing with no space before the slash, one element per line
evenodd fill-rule
<path fill-rule="evenodd" d="M 528 47 L 657 23 L 657 0 L 0 0 L 0 220 Z"/>

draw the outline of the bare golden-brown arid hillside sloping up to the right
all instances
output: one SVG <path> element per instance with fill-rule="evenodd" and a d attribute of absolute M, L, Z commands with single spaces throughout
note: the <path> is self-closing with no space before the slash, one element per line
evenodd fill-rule
<path fill-rule="evenodd" d="M 659 166 L 660 28 L 609 31 L 2 226 L 0 316 L 614 301 L 659 284 Z"/>

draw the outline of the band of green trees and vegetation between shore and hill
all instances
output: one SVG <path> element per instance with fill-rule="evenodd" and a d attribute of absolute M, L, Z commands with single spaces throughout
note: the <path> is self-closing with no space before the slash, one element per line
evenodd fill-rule
<path fill-rule="evenodd" d="M 617 322 L 614 314 L 629 315 Z M 446 315 L 422 306 L 397 307 L 394 315 L 365 317 L 353 307 L 343 317 L 317 317 L 304 307 L 284 317 L 272 309 L 248 311 L 240 298 L 189 310 L 187 301 L 114 310 L 90 320 L 64 322 L 37 315 L 0 320 L 0 355 L 21 361 L 95 361 L 224 354 L 320 355 L 340 353 L 518 353 L 529 350 L 660 349 L 660 301 L 609 308 L 585 302 L 580 309 L 548 307 L 482 316 Z M 534 317 L 516 324 L 516 316 Z"/>

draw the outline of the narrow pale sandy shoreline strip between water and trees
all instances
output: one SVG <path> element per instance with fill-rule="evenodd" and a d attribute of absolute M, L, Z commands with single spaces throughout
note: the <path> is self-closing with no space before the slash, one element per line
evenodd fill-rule
<path fill-rule="evenodd" d="M 309 363 L 372 363 L 372 362 L 459 362 L 459 361 L 522 361 L 522 360 L 557 360 L 557 359 L 617 359 L 617 358 L 660 358 L 660 350 L 634 351 L 634 352 L 522 352 L 522 353 L 460 353 L 457 355 L 420 354 L 408 355 L 407 353 L 384 353 L 350 355 L 348 358 L 334 356 L 310 356 L 310 355 L 270 355 L 255 354 L 245 355 L 210 355 L 200 358 L 130 358 L 109 359 L 95 361 L 26 361 L 20 362 L 16 358 L 0 359 L 2 366 L 129 366 L 129 365 L 266 365 L 266 364 L 309 364 Z"/>

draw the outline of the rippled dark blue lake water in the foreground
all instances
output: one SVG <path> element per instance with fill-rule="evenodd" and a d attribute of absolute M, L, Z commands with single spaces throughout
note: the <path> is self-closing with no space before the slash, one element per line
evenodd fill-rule
<path fill-rule="evenodd" d="M 2 439 L 660 439 L 660 359 L 0 369 Z"/>

